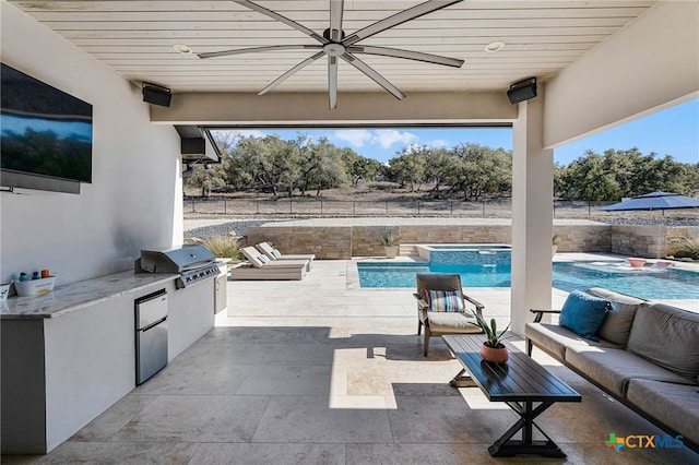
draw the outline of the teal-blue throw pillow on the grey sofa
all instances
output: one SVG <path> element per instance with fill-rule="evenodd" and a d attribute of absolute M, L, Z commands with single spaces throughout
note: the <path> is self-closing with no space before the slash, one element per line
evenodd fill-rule
<path fill-rule="evenodd" d="M 580 290 L 568 295 L 564 308 L 560 309 L 558 324 L 590 341 L 600 341 L 597 332 L 607 311 L 612 308 L 608 300 L 591 296 Z"/>

